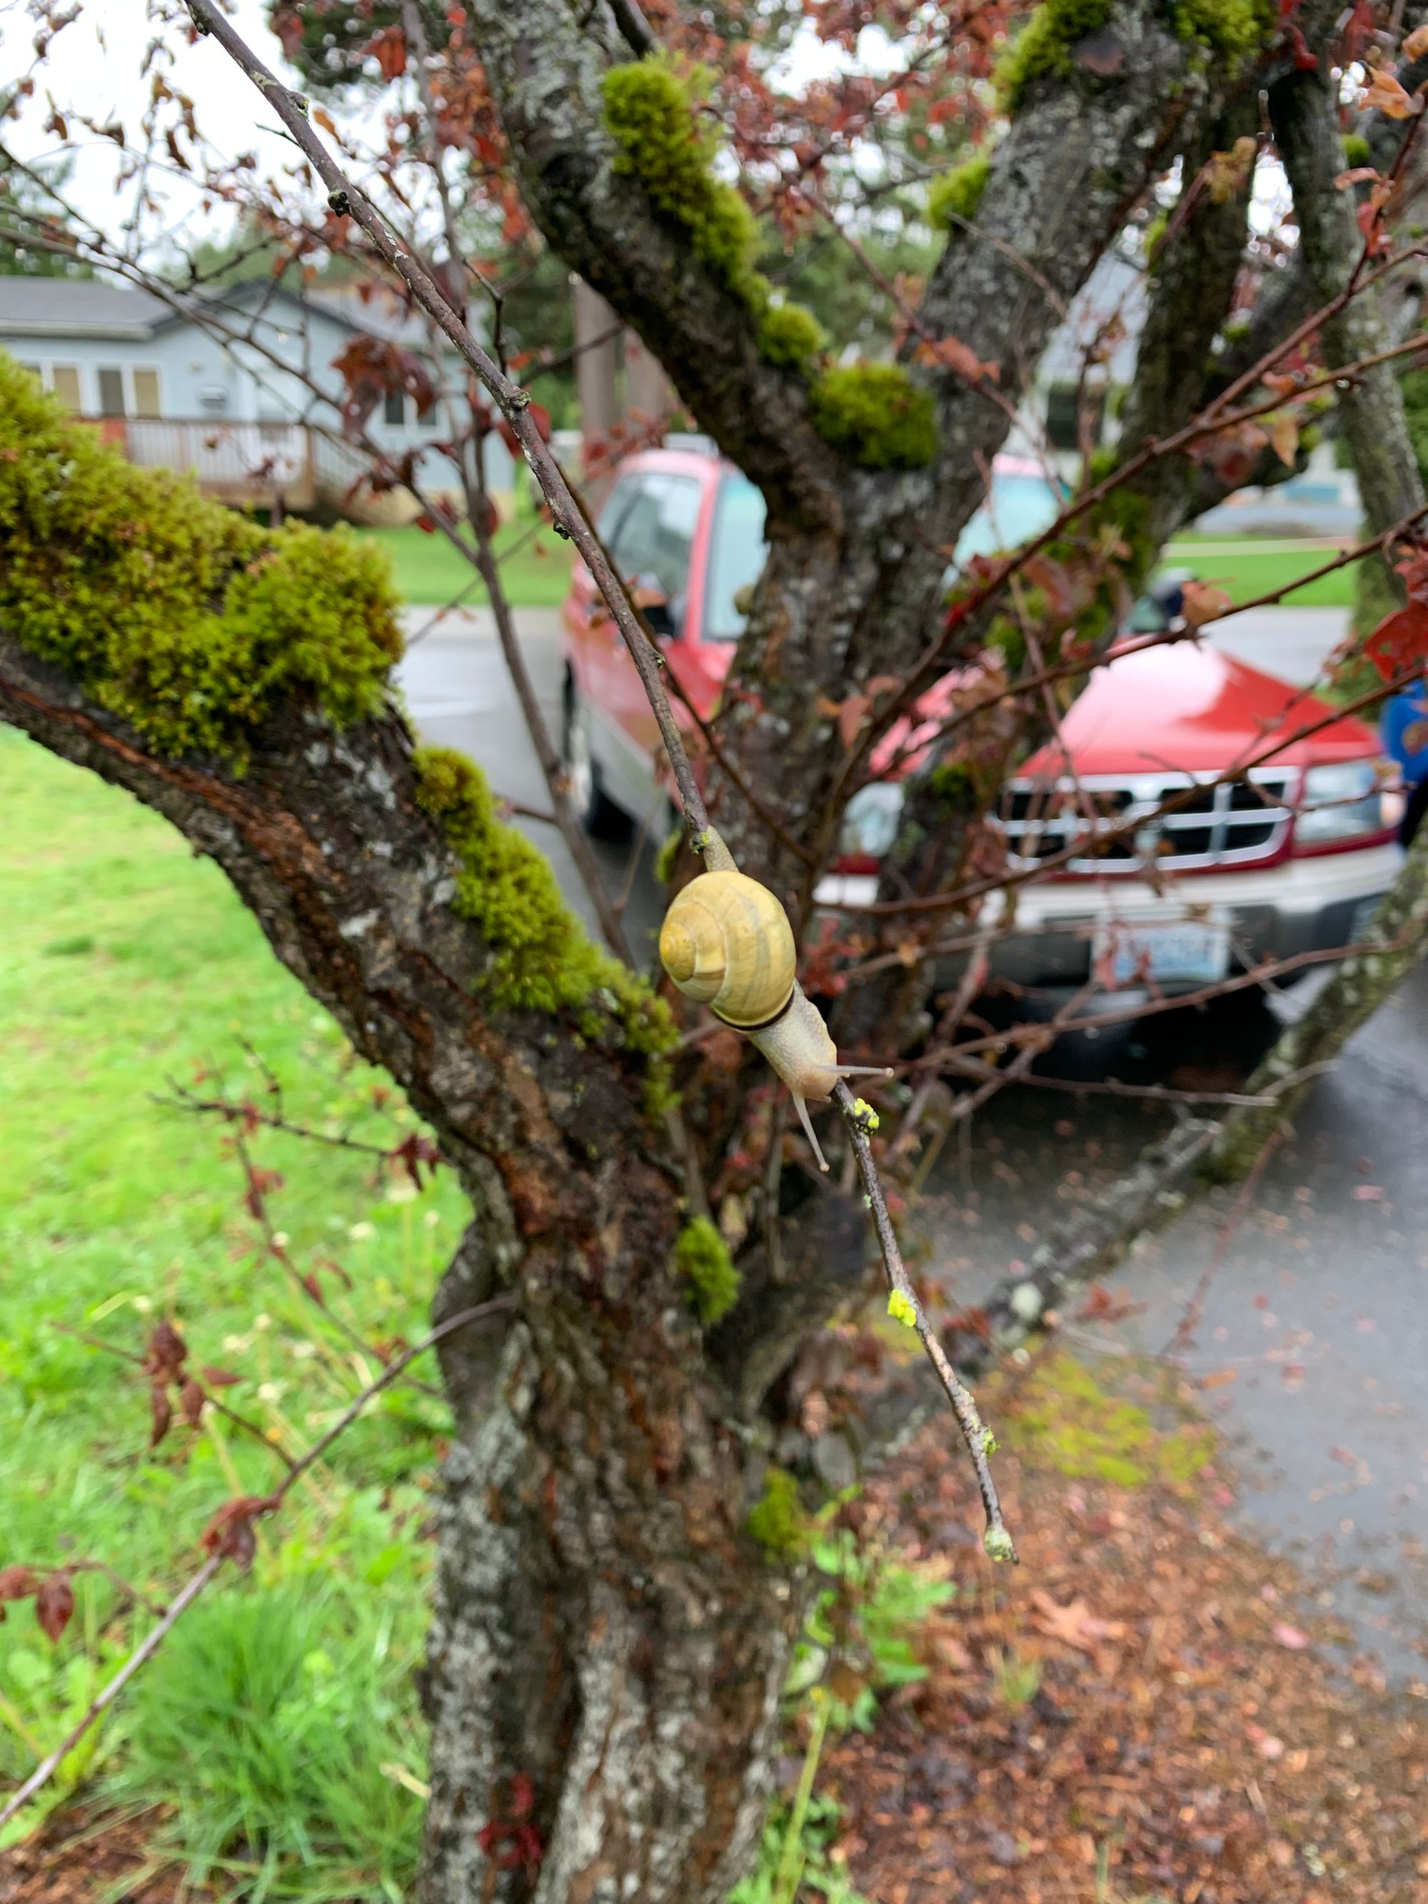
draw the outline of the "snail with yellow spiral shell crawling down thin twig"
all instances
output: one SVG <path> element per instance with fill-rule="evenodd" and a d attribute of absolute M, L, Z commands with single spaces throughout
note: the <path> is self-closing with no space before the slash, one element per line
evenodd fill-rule
<path fill-rule="evenodd" d="M 704 834 L 701 872 L 676 893 L 659 929 L 659 958 L 685 998 L 758 1045 L 788 1085 L 819 1169 L 828 1161 L 813 1135 L 807 1101 L 824 1104 L 840 1078 L 885 1078 L 878 1064 L 840 1064 L 817 1005 L 798 982 L 788 914 L 777 897 L 739 872 L 718 834 Z"/>

